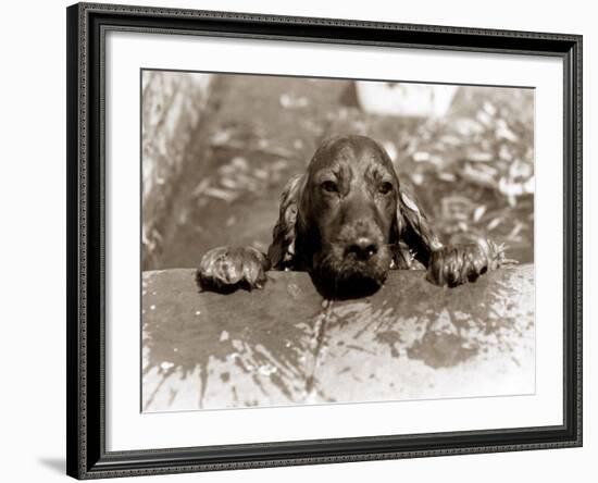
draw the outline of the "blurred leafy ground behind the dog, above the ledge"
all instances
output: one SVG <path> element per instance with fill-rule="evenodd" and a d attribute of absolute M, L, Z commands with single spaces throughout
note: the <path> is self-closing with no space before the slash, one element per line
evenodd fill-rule
<path fill-rule="evenodd" d="M 266 251 L 284 185 L 324 137 L 381 143 L 445 243 L 534 259 L 534 90 L 142 73 L 144 270 L 220 245 Z"/>

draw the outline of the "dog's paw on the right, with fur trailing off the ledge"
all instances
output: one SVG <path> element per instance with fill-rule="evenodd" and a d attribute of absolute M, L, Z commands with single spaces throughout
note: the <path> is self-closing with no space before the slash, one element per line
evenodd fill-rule
<path fill-rule="evenodd" d="M 516 263 L 504 257 L 504 249 L 491 240 L 439 248 L 431 253 L 427 280 L 449 287 L 475 282 L 488 270 Z"/>

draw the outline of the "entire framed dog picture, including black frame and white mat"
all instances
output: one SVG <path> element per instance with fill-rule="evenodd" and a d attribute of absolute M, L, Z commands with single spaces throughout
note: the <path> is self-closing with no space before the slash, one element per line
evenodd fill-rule
<path fill-rule="evenodd" d="M 582 36 L 258 10 L 66 9 L 67 474 L 581 447 Z"/>

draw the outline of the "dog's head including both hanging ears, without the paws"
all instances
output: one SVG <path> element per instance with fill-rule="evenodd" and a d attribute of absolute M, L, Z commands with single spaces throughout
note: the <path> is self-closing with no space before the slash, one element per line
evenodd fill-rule
<path fill-rule="evenodd" d="M 421 244 L 422 225 L 425 232 L 425 216 L 384 148 L 365 136 L 337 136 L 287 185 L 269 258 L 274 267 L 308 270 L 334 295 L 372 292 L 391 264 L 409 263 L 404 244 Z M 429 240 L 423 245 L 425 257 Z"/>

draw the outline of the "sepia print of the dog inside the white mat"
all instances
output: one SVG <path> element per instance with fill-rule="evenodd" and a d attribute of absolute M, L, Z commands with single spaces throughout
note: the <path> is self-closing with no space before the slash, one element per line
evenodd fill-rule
<path fill-rule="evenodd" d="M 535 393 L 533 87 L 139 90 L 142 412 Z"/>

